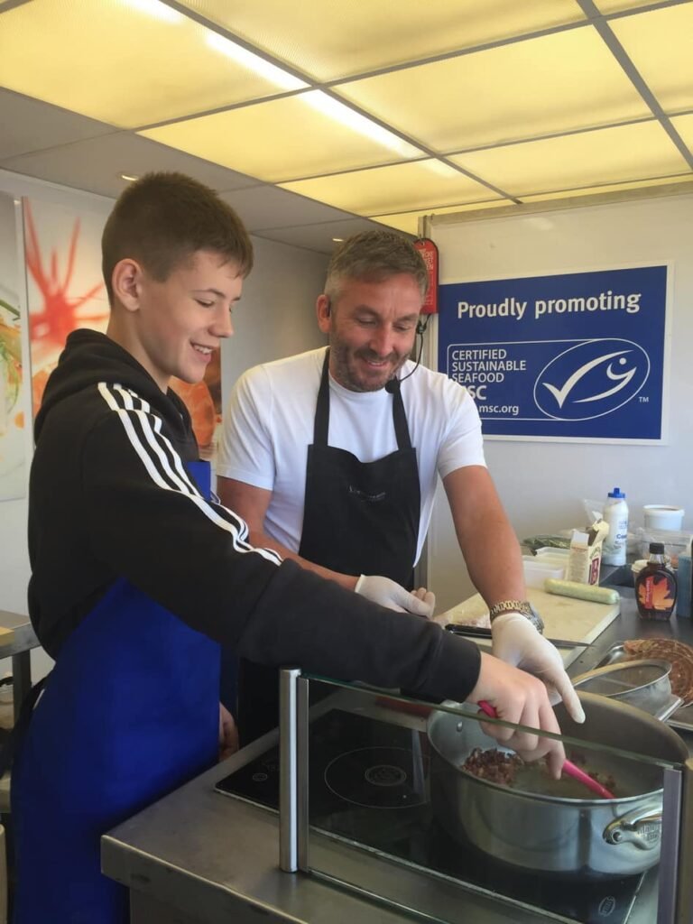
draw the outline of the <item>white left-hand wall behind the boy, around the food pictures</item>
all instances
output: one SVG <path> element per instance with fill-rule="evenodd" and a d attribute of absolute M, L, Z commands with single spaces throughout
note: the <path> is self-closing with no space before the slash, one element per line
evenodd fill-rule
<path fill-rule="evenodd" d="M 102 196 L 2 170 L 0 192 L 53 202 L 77 213 L 95 213 L 103 221 L 113 205 L 112 200 Z M 324 342 L 317 329 L 313 306 L 316 295 L 322 291 L 327 257 L 260 238 L 253 238 L 253 244 L 255 266 L 234 312 L 236 334 L 222 351 L 225 395 L 240 372 L 249 366 Z M 22 358 L 26 362 L 28 379 L 28 349 L 24 349 Z M 24 410 L 25 419 L 30 420 L 30 389 L 26 389 Z M 30 452 L 29 431 L 27 442 Z M 19 614 L 27 613 L 30 566 L 26 532 L 26 497 L 0 503 L 0 610 Z M 32 673 L 34 679 L 38 679 L 50 669 L 52 662 L 43 650 L 33 651 L 31 657 Z M 6 669 L 8 666 L 0 663 L 0 675 Z"/>

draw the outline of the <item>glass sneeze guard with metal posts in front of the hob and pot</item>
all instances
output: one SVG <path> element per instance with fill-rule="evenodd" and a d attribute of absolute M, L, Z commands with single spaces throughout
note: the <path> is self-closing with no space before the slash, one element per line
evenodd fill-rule
<path fill-rule="evenodd" d="M 468 772 L 479 748 L 505 781 L 512 759 L 481 722 L 519 727 L 475 706 L 298 670 L 282 672 L 281 692 L 283 869 L 448 924 L 690 920 L 677 872 L 691 767 L 662 723 L 590 695 L 584 726 L 559 707 L 567 755 L 614 791 L 602 800 L 543 761 L 511 767 L 512 785 Z"/>

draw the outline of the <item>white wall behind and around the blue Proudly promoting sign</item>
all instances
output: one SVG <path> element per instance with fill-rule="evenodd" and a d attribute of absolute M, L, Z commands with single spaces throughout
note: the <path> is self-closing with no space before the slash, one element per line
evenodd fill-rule
<path fill-rule="evenodd" d="M 581 499 L 604 498 L 615 485 L 627 493 L 631 522 L 642 523 L 644 504 L 680 505 L 685 527 L 693 529 L 693 194 L 455 225 L 433 219 L 432 237 L 441 252 L 442 283 L 672 262 L 667 444 L 493 440 L 485 452 L 520 539 L 582 525 Z M 429 586 L 444 610 L 473 592 L 460 572 L 444 492 L 429 539 Z"/>

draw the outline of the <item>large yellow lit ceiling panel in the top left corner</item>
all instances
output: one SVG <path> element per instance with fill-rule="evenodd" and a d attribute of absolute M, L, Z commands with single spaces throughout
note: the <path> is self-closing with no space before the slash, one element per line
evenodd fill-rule
<path fill-rule="evenodd" d="M 0 28 L 0 84 L 121 128 L 305 86 L 159 0 L 33 0 Z"/>

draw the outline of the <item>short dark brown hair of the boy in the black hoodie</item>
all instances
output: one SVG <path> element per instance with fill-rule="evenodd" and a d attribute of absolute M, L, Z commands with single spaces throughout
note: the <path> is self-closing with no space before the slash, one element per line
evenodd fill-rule
<path fill-rule="evenodd" d="M 237 214 L 213 189 L 191 176 L 150 173 L 128 186 L 108 216 L 101 239 L 103 281 L 113 304 L 116 263 L 130 258 L 164 282 L 198 250 L 213 250 L 252 269 L 252 244 Z"/>

